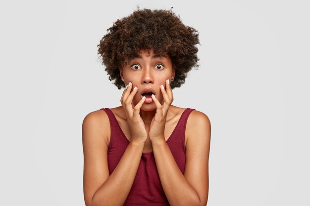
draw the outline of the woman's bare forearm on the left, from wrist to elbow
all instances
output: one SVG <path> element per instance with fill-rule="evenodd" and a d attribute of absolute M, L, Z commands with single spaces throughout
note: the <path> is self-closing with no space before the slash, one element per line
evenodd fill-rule
<path fill-rule="evenodd" d="M 114 171 L 96 191 L 91 206 L 122 206 L 135 179 L 144 143 L 129 143 Z"/>

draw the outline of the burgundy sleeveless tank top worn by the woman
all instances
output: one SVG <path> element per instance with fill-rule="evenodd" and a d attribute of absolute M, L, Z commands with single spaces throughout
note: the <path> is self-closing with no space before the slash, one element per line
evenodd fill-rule
<path fill-rule="evenodd" d="M 109 108 L 102 108 L 109 118 L 111 135 L 107 152 L 109 174 L 113 172 L 123 156 L 129 140 L 120 128 L 116 117 Z M 185 168 L 185 128 L 190 113 L 195 109 L 186 108 L 166 143 L 184 174 Z M 124 206 L 169 206 L 157 172 L 153 151 L 144 152 L 131 190 Z"/>

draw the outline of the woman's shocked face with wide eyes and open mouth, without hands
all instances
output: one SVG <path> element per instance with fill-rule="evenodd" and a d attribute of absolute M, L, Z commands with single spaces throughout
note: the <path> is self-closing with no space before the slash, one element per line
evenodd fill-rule
<path fill-rule="evenodd" d="M 124 79 L 125 85 L 129 82 L 133 84 L 132 89 L 137 86 L 138 91 L 133 99 L 136 105 L 143 96 L 146 100 L 141 107 L 143 111 L 153 111 L 156 109 L 155 103 L 151 98 L 152 93 L 163 103 L 163 96 L 160 91 L 160 85 L 165 87 L 165 82 L 171 78 L 174 79 L 175 71 L 172 69 L 170 57 L 159 56 L 151 50 L 142 49 L 140 54 L 133 58 L 129 64 L 120 70 L 120 76 Z"/>

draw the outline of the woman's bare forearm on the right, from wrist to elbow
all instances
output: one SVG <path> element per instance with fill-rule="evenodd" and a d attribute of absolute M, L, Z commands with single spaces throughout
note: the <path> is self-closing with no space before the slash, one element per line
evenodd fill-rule
<path fill-rule="evenodd" d="M 171 206 L 200 206 L 200 198 L 182 174 L 165 141 L 152 143 L 157 171 Z"/>

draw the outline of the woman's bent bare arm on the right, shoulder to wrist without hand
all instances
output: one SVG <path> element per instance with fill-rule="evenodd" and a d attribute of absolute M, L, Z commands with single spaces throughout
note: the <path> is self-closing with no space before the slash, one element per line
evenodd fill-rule
<path fill-rule="evenodd" d="M 152 142 L 161 185 L 171 206 L 206 206 L 208 197 L 208 156 L 210 122 L 198 111 L 186 126 L 186 165 L 184 175 L 176 164 L 164 138 Z"/>

